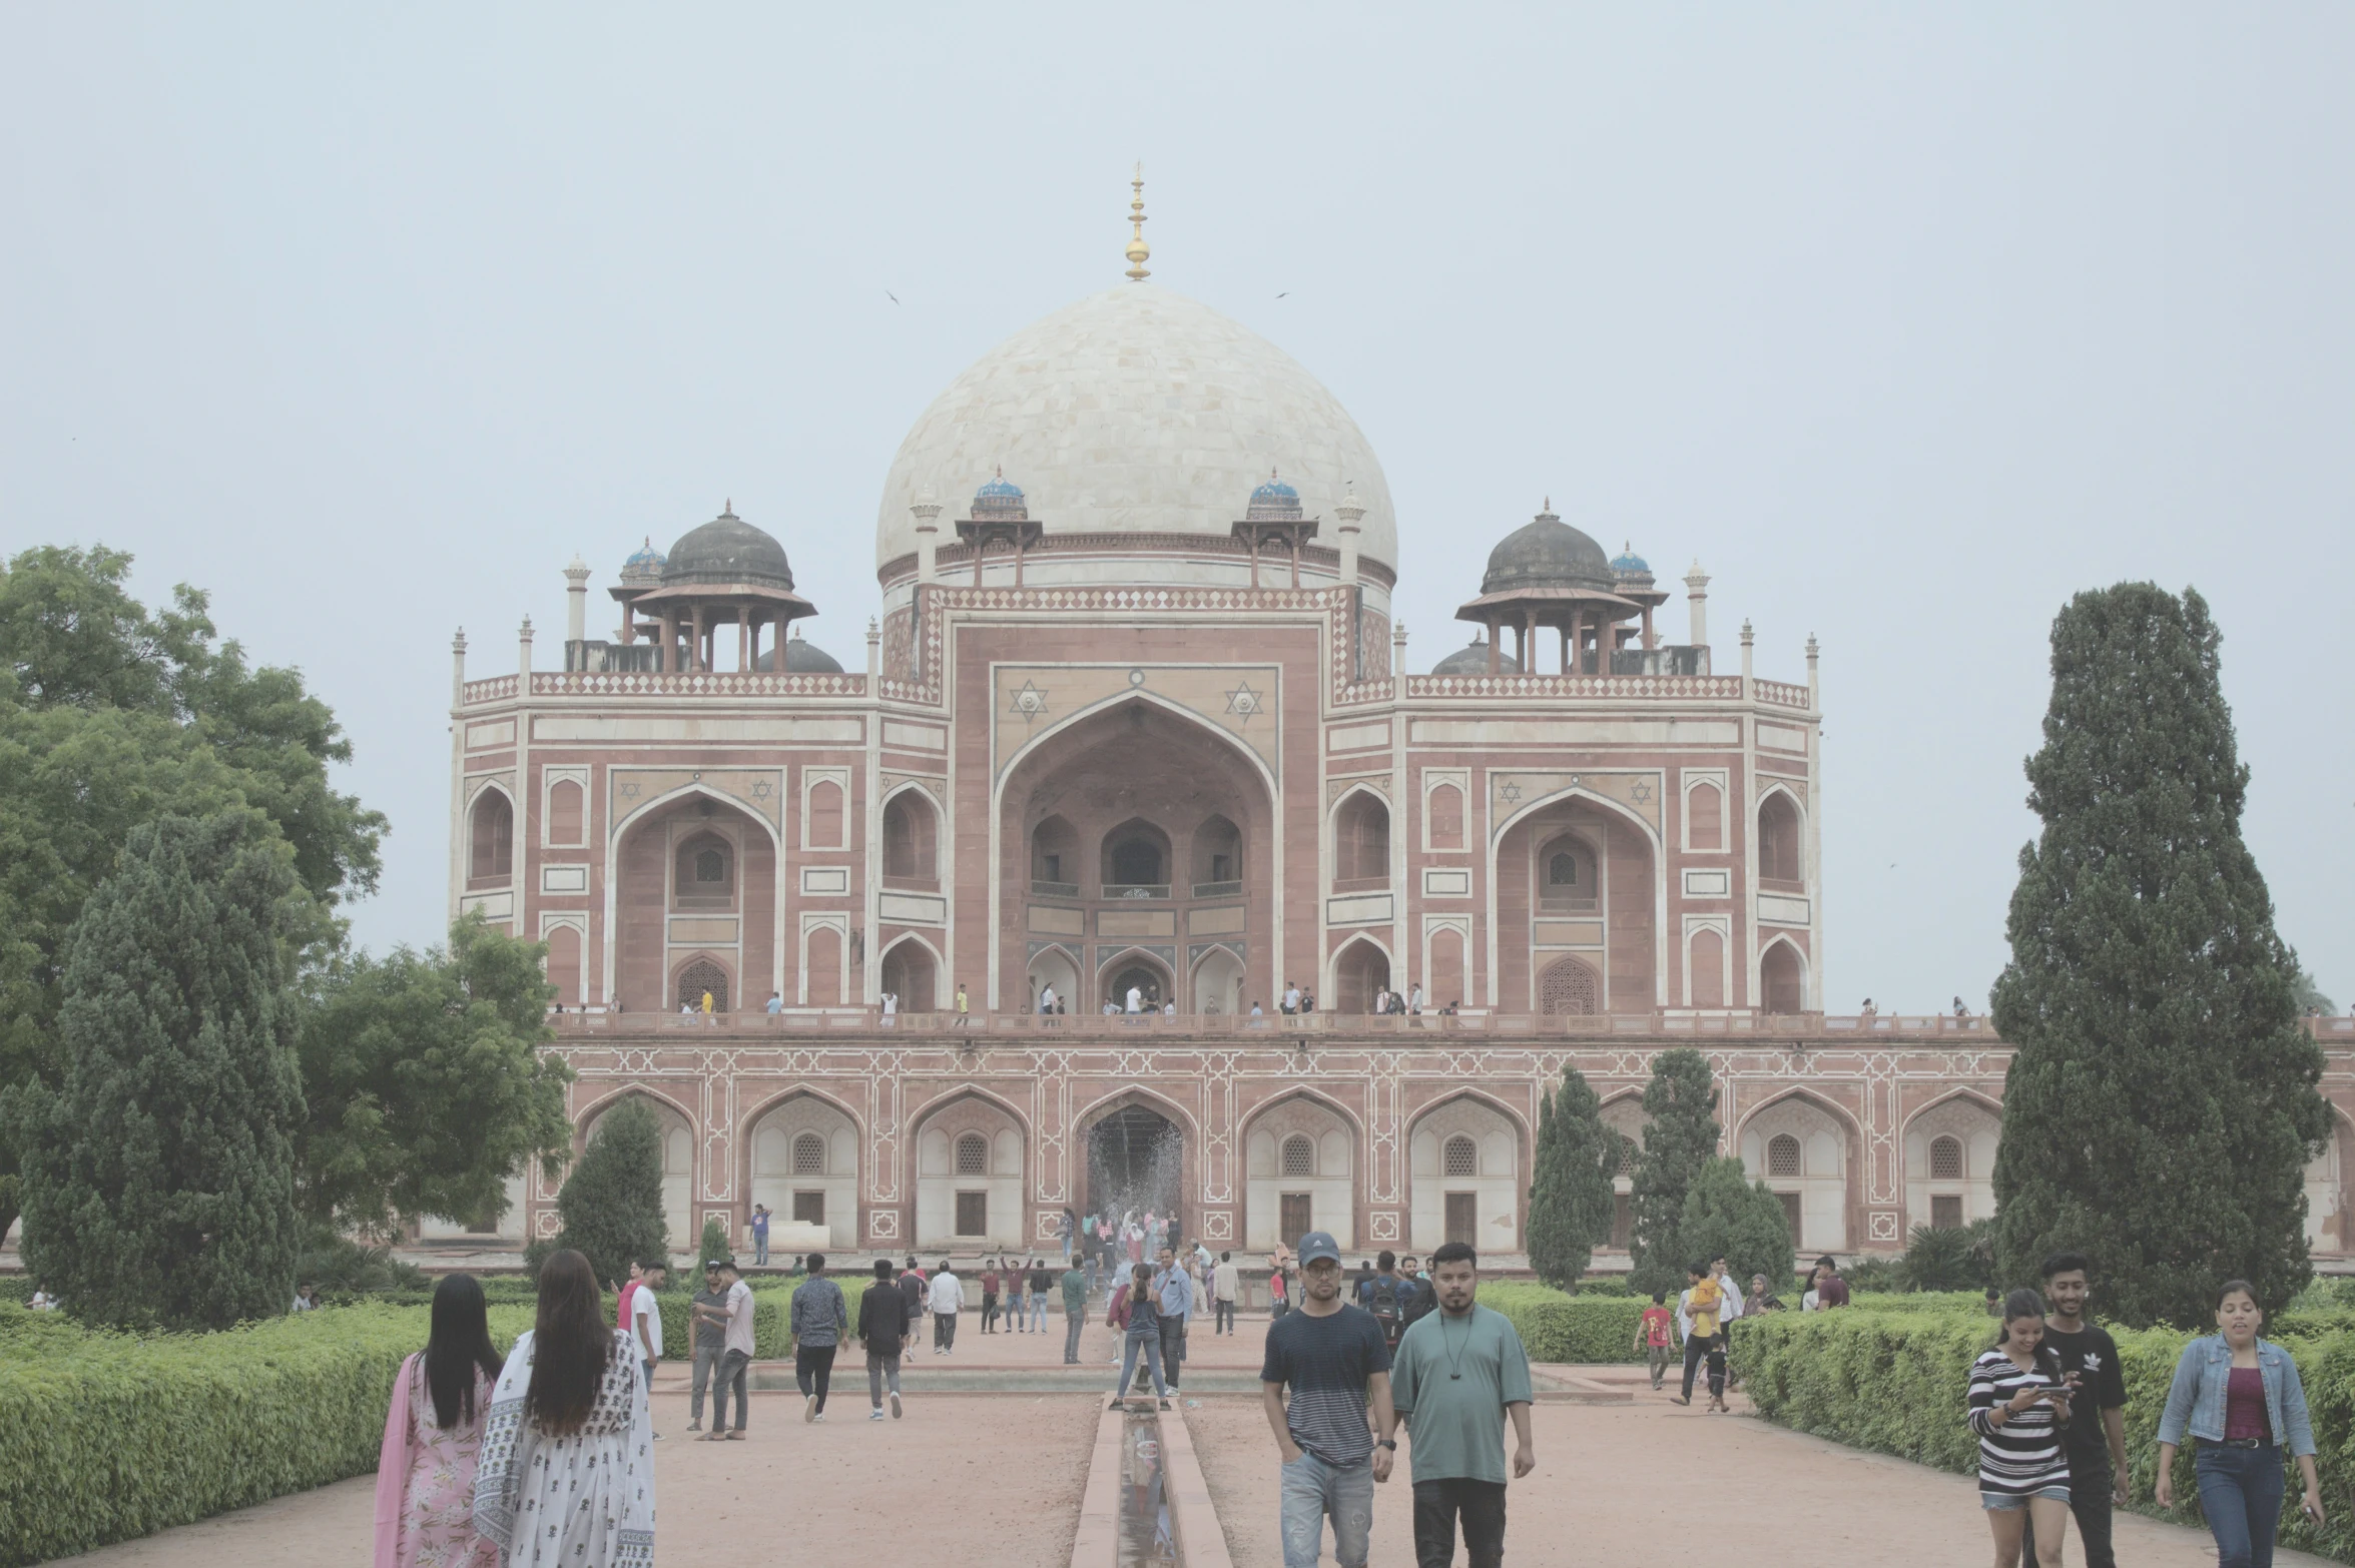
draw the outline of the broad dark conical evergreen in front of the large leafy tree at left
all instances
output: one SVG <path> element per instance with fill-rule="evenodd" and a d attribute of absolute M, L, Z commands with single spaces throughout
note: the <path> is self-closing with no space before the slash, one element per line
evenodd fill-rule
<path fill-rule="evenodd" d="M 259 812 L 162 817 L 73 923 L 66 1081 L 16 1085 L 7 1123 L 26 1264 L 85 1321 L 228 1328 L 292 1300 L 292 859 Z"/>

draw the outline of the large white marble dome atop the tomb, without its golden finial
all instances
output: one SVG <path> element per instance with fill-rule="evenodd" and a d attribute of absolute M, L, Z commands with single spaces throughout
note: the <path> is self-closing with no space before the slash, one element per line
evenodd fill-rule
<path fill-rule="evenodd" d="M 1081 299 L 1015 332 L 923 410 L 876 518 L 876 565 L 916 549 L 909 504 L 940 501 L 940 542 L 1003 466 L 1053 534 L 1229 537 L 1269 469 L 1321 518 L 1356 485 L 1359 553 L 1397 570 L 1389 483 L 1349 410 L 1265 337 L 1149 283 Z"/>

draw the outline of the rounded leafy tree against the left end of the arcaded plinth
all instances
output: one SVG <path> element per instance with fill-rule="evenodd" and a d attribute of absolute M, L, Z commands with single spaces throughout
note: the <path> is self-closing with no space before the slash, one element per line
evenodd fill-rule
<path fill-rule="evenodd" d="M 539 1045 L 556 994 L 544 949 L 469 913 L 447 951 L 405 946 L 330 968 L 301 1019 L 311 1114 L 304 1212 L 374 1236 L 396 1220 L 495 1220 L 506 1180 L 572 1151 L 570 1071 Z"/>

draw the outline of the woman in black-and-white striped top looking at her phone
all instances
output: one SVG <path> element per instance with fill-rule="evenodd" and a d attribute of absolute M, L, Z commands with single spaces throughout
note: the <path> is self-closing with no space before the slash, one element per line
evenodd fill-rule
<path fill-rule="evenodd" d="M 1978 1434 L 1978 1502 L 1995 1530 L 1995 1568 L 2018 1568 L 2021 1523 L 2037 1526 L 2037 1568 L 2061 1568 L 2068 1530 L 2068 1384 L 2044 1344 L 2044 1300 L 2004 1297 L 2004 1333 L 1971 1363 L 1971 1431 Z"/>

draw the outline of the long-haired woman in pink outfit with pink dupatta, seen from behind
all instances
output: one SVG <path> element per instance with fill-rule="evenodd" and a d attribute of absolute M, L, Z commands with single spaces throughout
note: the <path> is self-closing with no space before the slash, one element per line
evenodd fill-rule
<path fill-rule="evenodd" d="M 497 1568 L 473 1533 L 473 1467 L 499 1384 L 483 1285 L 452 1274 L 433 1288 L 426 1347 L 400 1363 L 377 1455 L 377 1568 Z"/>

